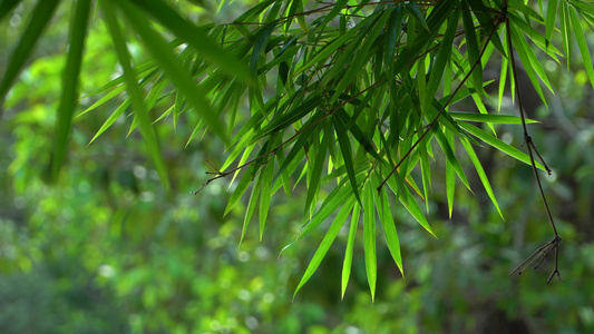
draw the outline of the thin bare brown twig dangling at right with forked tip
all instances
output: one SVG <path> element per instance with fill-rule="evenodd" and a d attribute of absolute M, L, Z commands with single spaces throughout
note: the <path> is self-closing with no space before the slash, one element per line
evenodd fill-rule
<path fill-rule="evenodd" d="M 551 242 L 546 243 L 544 246 L 542 246 L 538 249 L 536 249 L 536 252 L 534 252 L 530 256 L 528 256 L 528 258 L 526 258 L 526 261 L 524 261 L 518 267 L 516 267 L 512 273 L 509 273 L 509 276 L 512 276 L 512 275 L 514 275 L 516 273 L 518 275 L 520 275 L 522 272 L 527 266 L 529 266 L 532 263 L 534 263 L 537 258 L 541 258 L 541 261 L 536 264 L 536 266 L 534 266 L 534 268 L 537 269 L 538 267 L 541 267 L 541 265 L 547 258 L 548 254 L 553 249 L 555 249 L 555 268 L 553 269 L 553 272 L 548 276 L 548 279 L 546 281 L 546 284 L 548 284 L 548 283 L 551 283 L 551 281 L 555 276 L 557 276 L 557 278 L 559 278 L 559 281 L 563 281 L 561 278 L 561 273 L 558 271 L 558 256 L 559 256 L 559 246 L 558 245 L 559 245 L 561 240 L 563 240 L 563 239 L 559 236 L 559 234 L 557 233 L 557 227 L 555 226 L 555 220 L 553 219 L 553 215 L 551 214 L 551 209 L 548 207 L 548 203 L 546 202 L 545 191 L 543 190 L 543 184 L 541 183 L 541 177 L 538 176 L 538 170 L 536 169 L 536 161 L 534 159 L 534 154 L 536 154 L 538 156 L 538 158 L 543 163 L 543 166 L 545 167 L 545 169 L 548 173 L 548 175 L 551 175 L 551 169 L 545 164 L 543 157 L 541 156 L 541 154 L 536 149 L 536 145 L 534 145 L 534 141 L 532 140 L 532 137 L 528 135 L 528 128 L 526 127 L 526 117 L 525 117 L 524 107 L 523 107 L 523 104 L 522 104 L 522 95 L 520 95 L 519 85 L 518 85 L 519 81 L 518 81 L 518 76 L 517 76 L 516 61 L 515 61 L 515 58 L 514 58 L 514 46 L 512 43 L 512 30 L 510 30 L 512 27 L 510 27 L 510 23 L 509 23 L 509 17 L 507 16 L 507 1 L 504 2 L 504 13 L 505 13 L 505 17 L 504 17 L 504 19 L 505 19 L 505 28 L 506 28 L 506 35 L 507 35 L 508 58 L 509 58 L 509 61 L 510 61 L 509 65 L 512 67 L 512 75 L 514 76 L 514 80 L 516 81 L 516 92 L 517 92 L 517 96 L 518 96 L 519 116 L 522 118 L 522 128 L 524 129 L 524 144 L 526 145 L 526 147 L 528 149 L 528 156 L 530 157 L 530 166 L 532 166 L 532 170 L 534 173 L 534 178 L 536 179 L 536 184 L 538 185 L 538 190 L 541 191 L 541 197 L 543 198 L 543 204 L 545 206 L 546 215 L 548 216 L 548 222 L 551 223 L 551 227 L 553 228 L 553 233 L 555 234 L 555 236 L 553 237 L 553 239 Z"/>

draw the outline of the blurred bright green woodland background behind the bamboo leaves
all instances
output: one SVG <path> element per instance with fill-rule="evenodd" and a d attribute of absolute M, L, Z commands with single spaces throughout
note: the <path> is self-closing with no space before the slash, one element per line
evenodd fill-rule
<path fill-rule="evenodd" d="M 250 4 L 224 6 L 217 16 L 179 6 L 206 23 L 230 21 Z M 301 224 L 303 189 L 272 198 L 264 239 L 253 226 L 238 246 L 245 204 L 223 217 L 228 180 L 188 195 L 206 179 L 206 161 L 224 161 L 224 146 L 212 136 L 184 148 L 192 115 L 175 130 L 171 119 L 156 126 L 173 195 L 162 189 L 139 135 L 127 137 L 129 119 L 88 145 L 115 104 L 75 119 L 67 166 L 57 184 L 47 183 L 68 11 L 59 8 L 0 119 L 0 333 L 594 333 L 594 94 L 581 63 L 567 71 L 544 60 L 556 95 L 548 108 L 527 104 L 528 116 L 542 121 L 530 126 L 533 140 L 554 170 L 544 186 L 564 238 L 564 282 L 546 285 L 552 261 L 507 276 L 552 233 L 530 168 L 483 147 L 505 220 L 471 169 L 474 194 L 458 187 L 449 219 L 445 163 L 436 157 L 428 217 L 438 238 L 395 208 L 406 279 L 380 244 L 371 303 L 358 245 L 341 301 L 341 234 L 293 301 L 322 236 L 279 256 Z M 0 68 L 27 16 L 20 6 L 0 23 Z M 106 28 L 94 20 L 82 96 L 119 71 Z M 81 110 L 97 98 L 84 97 Z M 157 105 L 154 118 L 171 102 Z M 510 99 L 503 112 L 517 114 Z M 513 146 L 523 144 L 519 126 L 497 130 Z"/>

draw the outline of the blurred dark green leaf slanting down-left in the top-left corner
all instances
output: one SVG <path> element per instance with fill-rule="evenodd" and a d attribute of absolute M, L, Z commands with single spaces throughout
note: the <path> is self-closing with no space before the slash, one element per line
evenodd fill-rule
<path fill-rule="evenodd" d="M 53 16 L 53 11 L 56 10 L 58 2 L 59 0 L 38 1 L 33 8 L 31 19 L 29 20 L 25 32 L 22 32 L 17 47 L 8 57 L 8 63 L 6 65 L 4 73 L 0 80 L 0 110 L 2 109 L 6 95 L 14 84 L 14 80 L 17 80 L 19 73 L 25 67 L 25 63 L 31 56 L 35 45 Z M 4 6 L 6 7 L 3 8 L 6 8 L 6 12 L 8 13 L 8 10 L 13 4 L 7 2 Z"/>

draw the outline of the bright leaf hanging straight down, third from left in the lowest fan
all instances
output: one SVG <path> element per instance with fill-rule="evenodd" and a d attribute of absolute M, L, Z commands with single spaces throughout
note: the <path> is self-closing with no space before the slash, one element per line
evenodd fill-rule
<path fill-rule="evenodd" d="M 366 253 L 366 273 L 371 301 L 376 299 L 378 279 L 378 261 L 376 255 L 376 212 L 373 209 L 373 189 L 368 180 L 363 185 L 363 248 Z"/>

